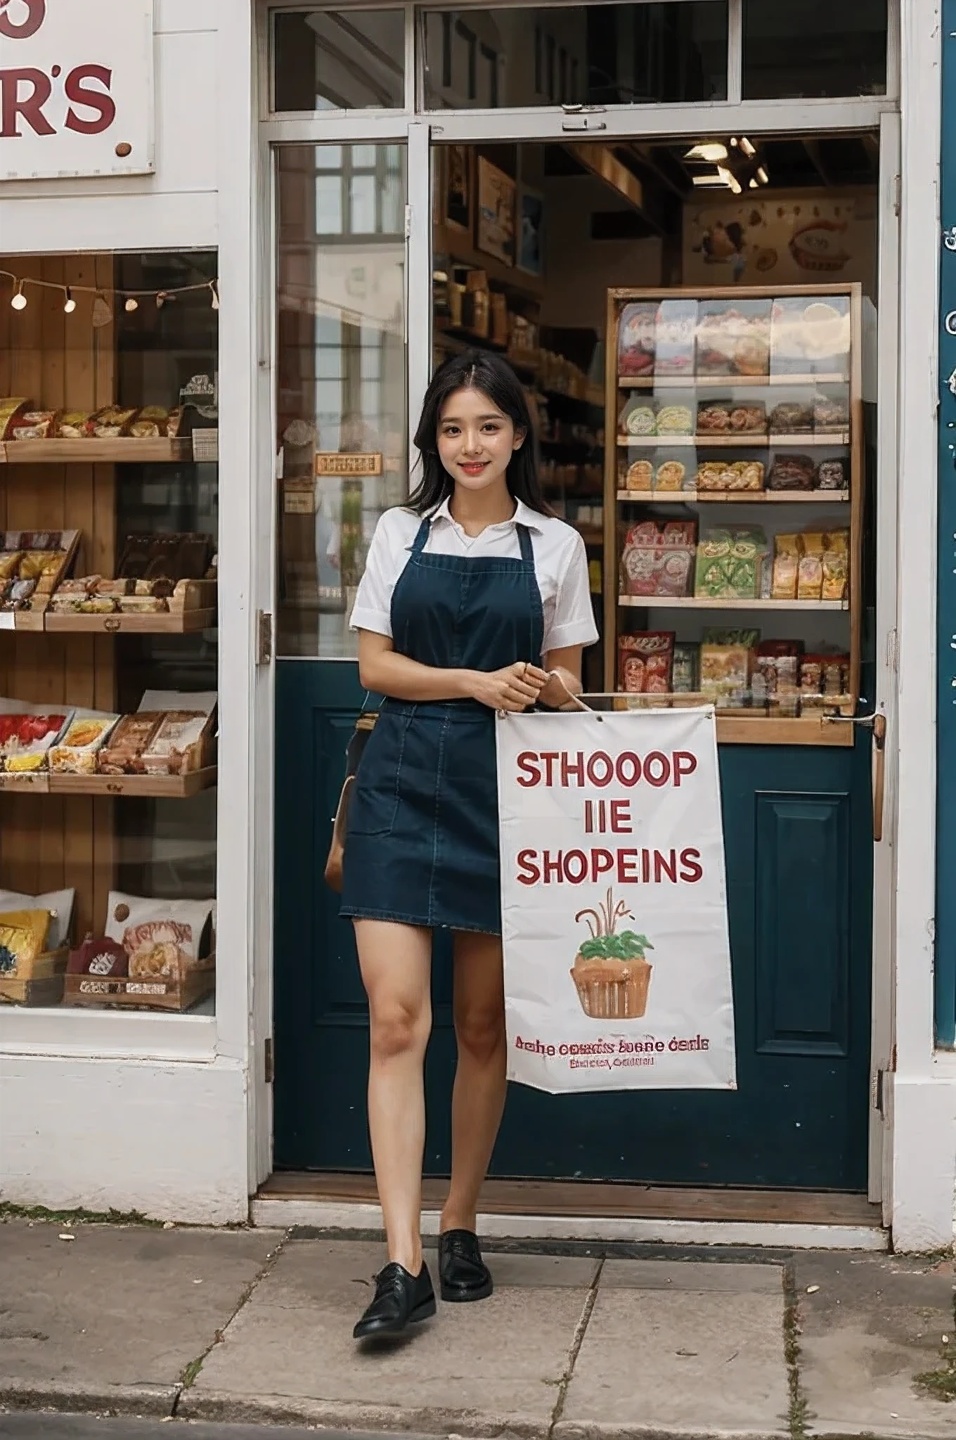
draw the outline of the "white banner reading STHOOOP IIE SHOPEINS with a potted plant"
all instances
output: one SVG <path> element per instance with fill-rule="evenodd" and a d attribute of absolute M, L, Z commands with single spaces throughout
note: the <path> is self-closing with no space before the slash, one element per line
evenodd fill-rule
<path fill-rule="evenodd" d="M 497 736 L 508 1079 L 736 1089 L 713 708 Z"/>

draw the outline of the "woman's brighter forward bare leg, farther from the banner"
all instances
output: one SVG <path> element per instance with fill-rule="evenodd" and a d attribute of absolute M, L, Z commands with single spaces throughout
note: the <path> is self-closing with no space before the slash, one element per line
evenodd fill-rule
<path fill-rule="evenodd" d="M 356 920 L 369 995 L 369 1130 L 389 1260 L 422 1269 L 423 1064 L 432 1030 L 432 936 L 387 920 Z"/>

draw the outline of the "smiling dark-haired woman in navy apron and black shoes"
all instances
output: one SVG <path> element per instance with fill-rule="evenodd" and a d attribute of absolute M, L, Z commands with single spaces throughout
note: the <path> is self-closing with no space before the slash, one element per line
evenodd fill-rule
<path fill-rule="evenodd" d="M 436 927 L 454 932 L 458 1043 L 441 1293 L 491 1295 L 475 1225 L 505 1097 L 495 711 L 569 703 L 598 639 L 585 546 L 543 500 L 511 367 L 485 351 L 443 364 L 415 444 L 422 481 L 382 516 L 351 615 L 361 684 L 387 697 L 353 791 L 341 906 L 369 995 L 389 1246 L 356 1339 L 435 1315 L 420 1208 Z"/>

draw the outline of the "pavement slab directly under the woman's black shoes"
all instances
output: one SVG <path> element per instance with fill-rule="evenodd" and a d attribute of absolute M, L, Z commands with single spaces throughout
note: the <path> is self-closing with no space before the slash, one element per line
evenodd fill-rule
<path fill-rule="evenodd" d="M 374 1244 L 289 1241 L 179 1414 L 546 1434 L 596 1263 L 495 1257 L 488 1300 L 439 1303 L 407 1339 L 360 1348 L 351 1326 L 382 1259 Z"/>

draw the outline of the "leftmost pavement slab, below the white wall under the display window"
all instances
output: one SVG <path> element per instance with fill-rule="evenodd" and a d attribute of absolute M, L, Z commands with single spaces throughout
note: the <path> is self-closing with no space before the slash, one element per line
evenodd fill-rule
<path fill-rule="evenodd" d="M 72 1234 L 72 1240 L 60 1240 Z M 0 1404 L 168 1414 L 278 1231 L 0 1224 Z"/>

